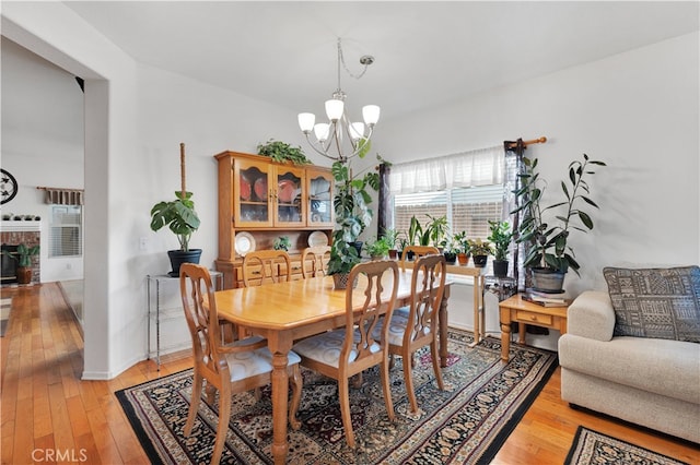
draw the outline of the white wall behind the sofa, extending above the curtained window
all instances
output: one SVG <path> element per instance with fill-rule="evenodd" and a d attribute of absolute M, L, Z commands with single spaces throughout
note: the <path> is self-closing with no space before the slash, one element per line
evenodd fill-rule
<path fill-rule="evenodd" d="M 581 154 L 606 162 L 588 179 L 600 210 L 582 205 L 595 228 L 570 240 L 582 264 L 581 278 L 567 276 L 574 295 L 606 289 L 604 266 L 697 264 L 699 43 L 689 34 L 386 121 L 374 146 L 400 163 L 545 135 L 527 153 L 539 158 L 549 196 Z"/>

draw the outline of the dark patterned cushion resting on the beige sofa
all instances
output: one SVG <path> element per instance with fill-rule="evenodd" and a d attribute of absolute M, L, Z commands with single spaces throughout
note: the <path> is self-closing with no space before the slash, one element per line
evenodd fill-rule
<path fill-rule="evenodd" d="M 603 270 L 615 335 L 700 343 L 700 267 Z"/>

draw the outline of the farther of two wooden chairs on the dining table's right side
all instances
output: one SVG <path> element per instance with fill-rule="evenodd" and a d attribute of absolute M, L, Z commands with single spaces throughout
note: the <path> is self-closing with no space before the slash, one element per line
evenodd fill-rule
<path fill-rule="evenodd" d="M 387 334 L 389 356 L 398 355 L 402 359 L 406 393 L 413 413 L 418 412 L 412 377 L 413 354 L 419 348 L 430 345 L 438 388 L 444 390 L 438 353 L 438 312 L 445 291 L 446 272 L 443 255 L 424 255 L 418 259 L 413 263 L 411 275 L 411 303 L 408 314 L 394 312 L 390 319 L 383 320 L 382 325 L 374 330 L 374 337 L 377 337 L 385 331 L 384 322 L 390 322 Z"/>

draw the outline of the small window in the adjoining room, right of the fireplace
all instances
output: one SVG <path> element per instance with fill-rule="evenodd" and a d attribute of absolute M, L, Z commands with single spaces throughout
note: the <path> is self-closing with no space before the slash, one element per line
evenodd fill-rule
<path fill-rule="evenodd" d="M 49 258 L 83 254 L 82 206 L 52 205 Z"/>

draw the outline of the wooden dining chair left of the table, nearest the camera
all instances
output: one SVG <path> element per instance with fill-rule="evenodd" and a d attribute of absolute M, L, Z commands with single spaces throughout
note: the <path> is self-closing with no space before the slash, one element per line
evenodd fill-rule
<path fill-rule="evenodd" d="M 231 396 L 271 382 L 272 354 L 267 348 L 267 341 L 257 336 L 223 344 L 218 324 L 214 287 L 209 271 L 205 266 L 185 263 L 180 266 L 179 273 L 180 296 L 192 339 L 194 357 L 191 402 L 184 432 L 187 437 L 191 433 L 202 394 L 202 382 L 207 380 L 207 397 L 210 404 L 213 402 L 214 390 L 219 391 L 219 426 L 211 455 L 211 463 L 218 464 L 229 429 Z M 287 374 L 292 386 L 289 409 L 292 429 L 301 427 L 301 422 L 295 418 L 302 394 L 299 362 L 300 357 L 290 351 Z"/>

